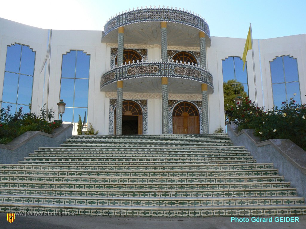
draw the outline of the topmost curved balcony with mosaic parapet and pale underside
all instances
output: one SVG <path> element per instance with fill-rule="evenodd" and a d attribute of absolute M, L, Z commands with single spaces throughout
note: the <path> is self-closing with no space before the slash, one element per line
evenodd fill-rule
<path fill-rule="evenodd" d="M 160 22 L 167 22 L 169 46 L 198 47 L 199 32 L 205 33 L 206 46 L 211 45 L 207 22 L 199 15 L 180 8 L 146 8 L 122 12 L 105 24 L 102 42 L 117 44 L 117 29 L 124 27 L 125 44 L 160 45 Z"/>

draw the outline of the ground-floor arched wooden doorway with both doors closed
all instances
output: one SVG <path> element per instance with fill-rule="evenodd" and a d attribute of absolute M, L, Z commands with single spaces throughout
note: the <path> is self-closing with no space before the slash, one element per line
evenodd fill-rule
<path fill-rule="evenodd" d="M 189 102 L 177 104 L 172 112 L 174 134 L 200 133 L 199 111 Z"/>

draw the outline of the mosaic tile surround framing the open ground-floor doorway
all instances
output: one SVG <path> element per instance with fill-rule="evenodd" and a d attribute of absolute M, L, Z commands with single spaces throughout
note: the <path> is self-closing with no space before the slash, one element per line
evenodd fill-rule
<path fill-rule="evenodd" d="M 123 93 L 124 94 L 124 93 Z M 129 99 L 131 100 L 131 99 Z M 148 110 L 147 110 L 147 100 L 132 100 L 136 102 L 142 108 L 142 133 L 148 134 Z M 109 128 L 108 134 L 114 134 L 114 111 L 117 105 L 117 99 L 110 99 L 110 109 L 109 109 Z"/>

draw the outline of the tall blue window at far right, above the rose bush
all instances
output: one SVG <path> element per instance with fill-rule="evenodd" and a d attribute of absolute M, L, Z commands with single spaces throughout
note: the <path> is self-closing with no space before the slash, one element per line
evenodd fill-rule
<path fill-rule="evenodd" d="M 282 102 L 290 100 L 294 93 L 294 100 L 301 103 L 299 73 L 297 59 L 288 56 L 277 56 L 270 61 L 273 104 L 281 107 Z"/>

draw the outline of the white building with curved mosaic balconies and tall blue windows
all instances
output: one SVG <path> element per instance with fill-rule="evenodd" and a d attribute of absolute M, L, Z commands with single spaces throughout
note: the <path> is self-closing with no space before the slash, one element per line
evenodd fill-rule
<path fill-rule="evenodd" d="M 77 122 L 86 111 L 87 122 L 102 135 L 121 131 L 114 111 L 121 91 L 123 134 L 224 129 L 223 82 L 229 79 L 244 84 L 260 107 L 279 105 L 293 93 L 306 103 L 305 34 L 254 39 L 256 83 L 250 51 L 242 71 L 245 39 L 210 37 L 204 20 L 179 10 L 123 13 L 104 31 L 51 31 L 0 18 L 0 36 L 1 107 L 29 111 L 31 104 L 38 113 L 48 104 L 58 112 L 64 99 L 64 121 Z M 123 66 L 116 67 L 117 58 Z"/>

